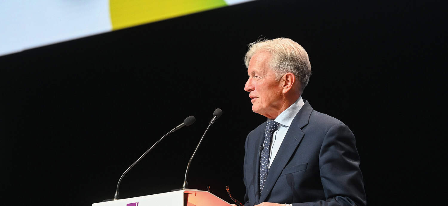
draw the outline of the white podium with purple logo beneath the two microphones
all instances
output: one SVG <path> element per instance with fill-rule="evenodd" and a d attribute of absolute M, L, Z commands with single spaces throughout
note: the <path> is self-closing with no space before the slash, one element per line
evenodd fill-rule
<path fill-rule="evenodd" d="M 93 203 L 92 206 L 230 206 L 214 194 L 202 190 L 179 190 L 141 197 L 131 197 L 109 202 Z"/>

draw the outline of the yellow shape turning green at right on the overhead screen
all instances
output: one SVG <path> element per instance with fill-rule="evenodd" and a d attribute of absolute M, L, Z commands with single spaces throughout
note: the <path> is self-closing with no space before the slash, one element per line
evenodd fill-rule
<path fill-rule="evenodd" d="M 110 0 L 112 29 L 118 30 L 227 6 L 224 0 Z"/>

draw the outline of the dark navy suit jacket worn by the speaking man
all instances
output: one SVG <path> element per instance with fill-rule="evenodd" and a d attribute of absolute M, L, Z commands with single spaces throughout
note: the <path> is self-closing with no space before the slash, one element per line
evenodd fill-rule
<path fill-rule="evenodd" d="M 260 147 L 266 122 L 246 138 L 245 206 L 261 202 L 293 206 L 365 206 L 355 137 L 341 121 L 305 105 L 294 118 L 269 167 L 260 196 Z"/>

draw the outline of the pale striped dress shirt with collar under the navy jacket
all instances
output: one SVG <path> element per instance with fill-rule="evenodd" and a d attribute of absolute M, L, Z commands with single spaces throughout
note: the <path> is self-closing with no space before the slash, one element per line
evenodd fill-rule
<path fill-rule="evenodd" d="M 276 154 L 280 149 L 280 145 L 283 142 L 284 136 L 288 132 L 288 129 L 291 126 L 294 117 L 297 115 L 304 104 L 305 103 L 303 102 L 301 95 L 299 99 L 296 100 L 296 102 L 289 106 L 285 111 L 280 113 L 280 115 L 277 116 L 277 118 L 274 120 L 280 124 L 277 127 L 277 130 L 274 131 L 274 134 L 272 135 L 271 150 L 269 154 L 269 165 L 267 167 L 268 171 L 269 168 L 271 168 L 272 161 L 274 161 Z"/>

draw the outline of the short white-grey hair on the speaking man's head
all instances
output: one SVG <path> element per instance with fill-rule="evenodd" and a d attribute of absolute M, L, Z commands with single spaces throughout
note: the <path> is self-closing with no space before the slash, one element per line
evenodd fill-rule
<path fill-rule="evenodd" d="M 302 94 L 311 76 L 311 64 L 305 49 L 288 38 L 259 39 L 249 44 L 249 51 L 244 57 L 247 68 L 252 56 L 260 51 L 271 54 L 268 65 L 276 74 L 276 81 L 279 81 L 285 73 L 293 73 L 300 82 Z"/>

